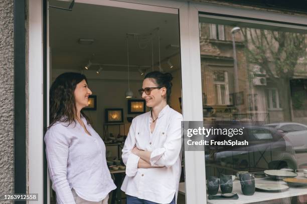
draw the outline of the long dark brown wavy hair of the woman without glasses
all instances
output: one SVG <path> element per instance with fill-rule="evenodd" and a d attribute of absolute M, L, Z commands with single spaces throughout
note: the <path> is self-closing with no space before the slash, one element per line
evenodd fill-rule
<path fill-rule="evenodd" d="M 52 83 L 49 93 L 51 127 L 56 121 L 76 123 L 75 116 L 77 106 L 74 91 L 78 83 L 82 80 L 87 83 L 86 76 L 76 72 L 65 72 L 59 75 Z M 88 124 L 91 123 L 89 117 L 81 110 L 81 114 L 86 118 Z M 48 128 L 49 128 L 48 127 Z"/>

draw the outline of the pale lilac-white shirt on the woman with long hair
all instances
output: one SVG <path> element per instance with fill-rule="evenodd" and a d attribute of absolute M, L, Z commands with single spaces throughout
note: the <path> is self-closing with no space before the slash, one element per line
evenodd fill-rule
<path fill-rule="evenodd" d="M 75 204 L 71 188 L 83 199 L 100 201 L 116 188 L 105 158 L 103 140 L 87 124 L 56 122 L 45 134 L 46 154 L 57 204 Z"/>

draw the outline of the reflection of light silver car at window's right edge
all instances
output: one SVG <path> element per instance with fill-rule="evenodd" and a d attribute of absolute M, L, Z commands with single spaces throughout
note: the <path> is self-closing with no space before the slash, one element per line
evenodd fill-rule
<path fill-rule="evenodd" d="M 295 122 L 266 124 L 283 132 L 290 140 L 295 151 L 307 150 L 307 125 Z"/>

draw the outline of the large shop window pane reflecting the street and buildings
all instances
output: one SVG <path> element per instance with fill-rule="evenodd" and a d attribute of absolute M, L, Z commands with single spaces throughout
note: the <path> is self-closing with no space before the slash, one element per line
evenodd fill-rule
<path fill-rule="evenodd" d="M 236 139 L 250 141 L 242 147 L 206 146 L 206 176 L 248 171 L 262 182 L 266 169 L 307 168 L 307 29 L 202 14 L 199 19 L 204 124 L 245 122 L 248 134 Z M 240 182 L 234 185 L 240 200 Z M 270 202 L 271 193 L 258 195 L 244 203 L 295 198 Z"/>

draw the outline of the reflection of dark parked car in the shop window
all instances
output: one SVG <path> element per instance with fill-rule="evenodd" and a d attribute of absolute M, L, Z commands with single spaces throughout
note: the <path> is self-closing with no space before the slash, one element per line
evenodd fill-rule
<path fill-rule="evenodd" d="M 211 146 L 206 150 L 206 164 L 250 172 L 284 167 L 297 169 L 291 142 L 275 128 L 262 125 L 245 126 L 246 133 L 238 140 L 247 140 L 248 146 Z"/>

